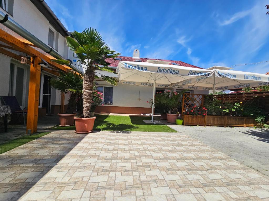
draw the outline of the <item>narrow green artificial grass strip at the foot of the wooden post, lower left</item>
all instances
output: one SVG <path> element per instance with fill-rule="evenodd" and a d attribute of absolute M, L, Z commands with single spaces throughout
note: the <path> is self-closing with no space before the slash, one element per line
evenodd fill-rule
<path fill-rule="evenodd" d="M 38 133 L 36 135 L 26 135 L 26 136 L 19 137 L 19 138 L 14 139 L 14 140 L 10 140 L 6 143 L 0 144 L 0 154 L 4 153 L 6 151 L 12 150 L 16 147 L 19 147 L 27 142 L 30 142 L 34 139 L 37 139 L 37 138 L 42 137 L 44 135 L 47 135 L 49 133 L 50 132 L 43 132 L 43 133 Z"/>

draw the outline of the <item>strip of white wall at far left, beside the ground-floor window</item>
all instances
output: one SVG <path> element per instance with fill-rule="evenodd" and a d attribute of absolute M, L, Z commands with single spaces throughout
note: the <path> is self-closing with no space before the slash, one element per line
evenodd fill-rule
<path fill-rule="evenodd" d="M 8 96 L 10 58 L 0 54 L 0 96 Z"/>

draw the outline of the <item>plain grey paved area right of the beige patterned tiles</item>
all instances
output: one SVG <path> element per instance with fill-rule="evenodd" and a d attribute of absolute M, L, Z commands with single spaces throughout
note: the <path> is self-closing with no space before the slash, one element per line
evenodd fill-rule
<path fill-rule="evenodd" d="M 168 126 L 269 176 L 269 129 Z"/>

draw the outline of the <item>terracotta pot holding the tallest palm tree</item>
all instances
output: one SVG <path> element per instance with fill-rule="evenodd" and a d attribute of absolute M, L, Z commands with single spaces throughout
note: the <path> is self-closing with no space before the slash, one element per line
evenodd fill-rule
<path fill-rule="evenodd" d="M 76 121 L 76 130 L 75 130 L 76 133 L 87 134 L 93 132 L 93 125 L 96 117 L 89 117 L 89 118 L 74 117 L 74 119 Z"/>

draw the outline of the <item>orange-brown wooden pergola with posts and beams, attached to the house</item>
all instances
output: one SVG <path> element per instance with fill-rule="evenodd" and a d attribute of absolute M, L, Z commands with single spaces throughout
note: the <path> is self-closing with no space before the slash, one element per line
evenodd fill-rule
<path fill-rule="evenodd" d="M 30 64 L 30 81 L 29 81 L 29 95 L 28 95 L 28 111 L 27 111 L 27 125 L 26 133 L 28 130 L 31 133 L 37 131 L 37 117 L 38 117 L 38 103 L 39 103 L 39 89 L 40 89 L 40 75 L 41 75 L 41 65 L 43 59 L 49 64 L 49 68 L 43 67 L 44 71 L 52 73 L 56 76 L 59 75 L 58 70 L 63 70 L 67 72 L 72 70 L 66 65 L 59 65 L 52 62 L 51 59 L 56 59 L 50 54 L 44 52 L 40 48 L 36 47 L 33 43 L 24 39 L 22 36 L 13 32 L 9 28 L 0 24 L 0 53 L 8 57 L 21 61 L 23 53 L 31 57 L 30 61 L 27 60 L 27 64 Z M 3 44 L 4 43 L 4 44 Z M 10 50 L 15 50 L 20 52 L 20 54 L 15 54 Z M 61 95 L 61 112 L 64 111 L 64 94 Z"/>

